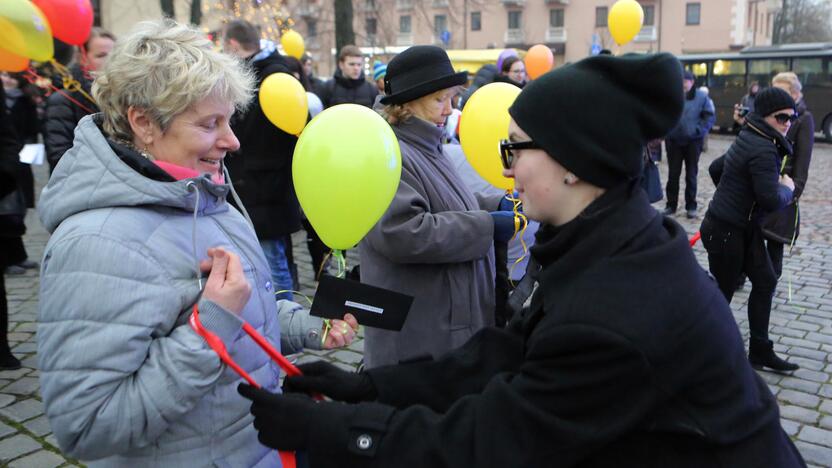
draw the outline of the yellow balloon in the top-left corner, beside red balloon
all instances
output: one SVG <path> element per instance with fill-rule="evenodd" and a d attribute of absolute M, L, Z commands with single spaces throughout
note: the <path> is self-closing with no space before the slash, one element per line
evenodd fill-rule
<path fill-rule="evenodd" d="M 40 62 L 55 53 L 49 22 L 29 0 L 0 1 L 0 44 L 15 55 Z"/>

